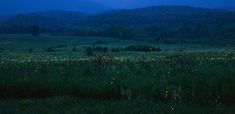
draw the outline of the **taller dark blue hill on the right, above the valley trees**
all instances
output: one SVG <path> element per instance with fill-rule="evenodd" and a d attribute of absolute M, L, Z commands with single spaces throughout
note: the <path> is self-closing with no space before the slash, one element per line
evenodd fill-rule
<path fill-rule="evenodd" d="M 209 23 L 231 23 L 234 12 L 194 8 L 188 6 L 156 6 L 131 10 L 113 10 L 90 16 L 86 23 L 92 25 L 192 25 Z"/>

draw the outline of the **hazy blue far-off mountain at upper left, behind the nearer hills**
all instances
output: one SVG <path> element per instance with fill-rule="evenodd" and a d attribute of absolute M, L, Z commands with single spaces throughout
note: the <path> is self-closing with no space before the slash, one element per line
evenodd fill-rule
<path fill-rule="evenodd" d="M 47 10 L 99 13 L 109 8 L 93 0 L 0 0 L 0 15 Z"/>

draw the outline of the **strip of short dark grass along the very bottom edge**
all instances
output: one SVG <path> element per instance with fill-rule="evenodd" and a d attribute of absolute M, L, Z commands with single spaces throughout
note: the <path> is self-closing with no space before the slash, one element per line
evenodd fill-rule
<path fill-rule="evenodd" d="M 234 114 L 234 105 L 92 100 L 73 97 L 0 101 L 1 114 Z"/>

